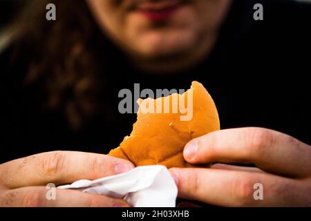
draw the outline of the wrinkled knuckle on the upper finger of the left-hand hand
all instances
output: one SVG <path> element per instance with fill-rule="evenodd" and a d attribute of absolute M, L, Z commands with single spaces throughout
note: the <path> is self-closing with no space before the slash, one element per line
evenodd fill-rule
<path fill-rule="evenodd" d="M 62 151 L 47 153 L 42 160 L 42 169 L 46 175 L 59 175 L 64 171 L 66 155 Z"/>

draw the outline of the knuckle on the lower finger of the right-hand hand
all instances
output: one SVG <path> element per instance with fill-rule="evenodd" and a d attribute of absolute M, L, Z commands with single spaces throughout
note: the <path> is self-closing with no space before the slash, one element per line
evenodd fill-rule
<path fill-rule="evenodd" d="M 249 177 L 238 177 L 232 184 L 232 198 L 235 206 L 249 206 L 253 198 L 254 182 Z"/>

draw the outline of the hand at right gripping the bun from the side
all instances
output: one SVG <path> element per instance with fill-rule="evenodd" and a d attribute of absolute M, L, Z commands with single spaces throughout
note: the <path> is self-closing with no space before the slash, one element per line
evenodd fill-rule
<path fill-rule="evenodd" d="M 311 206 L 311 147 L 289 135 L 265 128 L 216 131 L 191 140 L 184 157 L 191 164 L 226 164 L 171 169 L 180 198 L 218 206 Z M 254 199 L 254 184 L 263 185 L 263 200 Z"/>

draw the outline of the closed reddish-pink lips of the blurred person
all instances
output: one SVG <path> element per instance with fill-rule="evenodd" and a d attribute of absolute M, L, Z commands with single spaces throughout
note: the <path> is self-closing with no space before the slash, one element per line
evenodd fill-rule
<path fill-rule="evenodd" d="M 182 6 L 181 1 L 147 1 L 140 3 L 135 11 L 152 21 L 163 21 L 169 19 L 180 6 Z"/>

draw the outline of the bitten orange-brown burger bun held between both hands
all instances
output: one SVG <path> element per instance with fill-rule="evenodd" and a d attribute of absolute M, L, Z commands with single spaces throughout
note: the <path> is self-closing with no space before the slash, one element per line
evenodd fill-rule
<path fill-rule="evenodd" d="M 131 135 L 124 137 L 120 146 L 109 153 L 135 166 L 191 166 L 182 155 L 187 142 L 220 129 L 214 101 L 197 81 L 182 95 L 139 99 L 138 104 L 138 119 Z M 165 107 L 169 107 L 169 111 Z"/>

